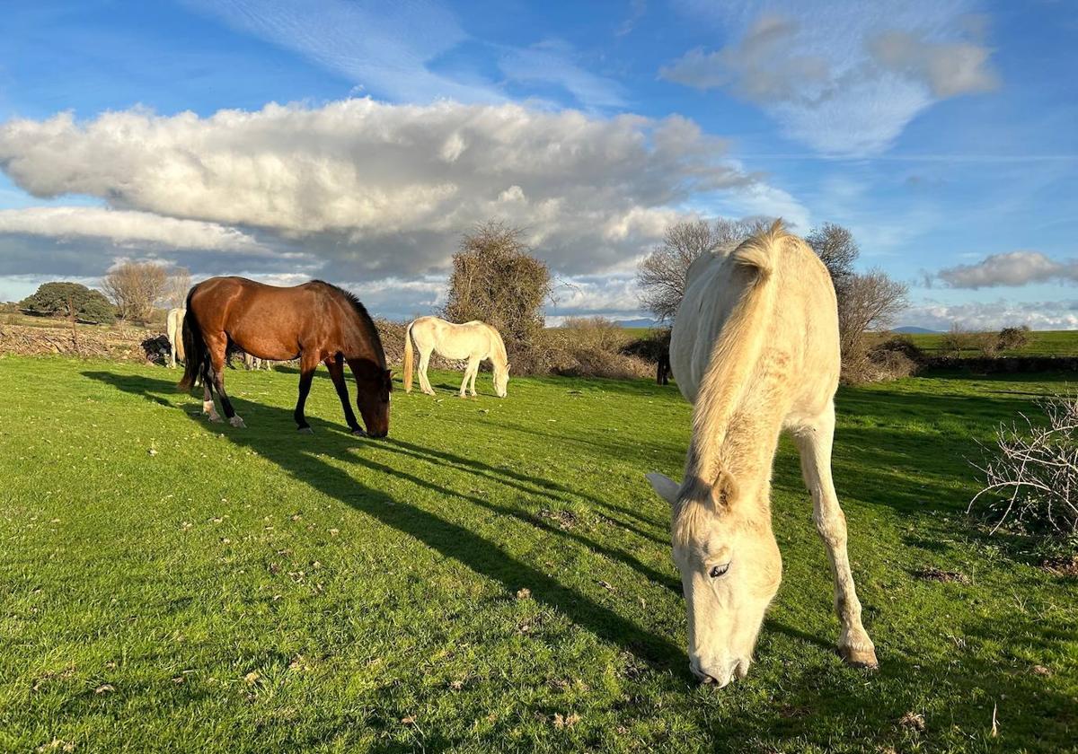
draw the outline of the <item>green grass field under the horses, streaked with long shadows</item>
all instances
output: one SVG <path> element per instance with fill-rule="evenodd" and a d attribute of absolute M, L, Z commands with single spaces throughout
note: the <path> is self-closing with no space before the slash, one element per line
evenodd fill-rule
<path fill-rule="evenodd" d="M 312 436 L 294 374 L 229 373 L 246 430 L 206 423 L 177 378 L 0 359 L 2 751 L 1074 750 L 1078 585 L 963 514 L 975 441 L 1063 377 L 840 393 L 877 672 L 833 652 L 784 442 L 785 580 L 721 692 L 690 678 L 668 511 L 642 477 L 680 476 L 675 387 L 514 379 L 499 401 L 484 374 L 472 401 L 432 374 L 439 397 L 397 393 L 390 438 L 367 441 L 324 378 Z"/>

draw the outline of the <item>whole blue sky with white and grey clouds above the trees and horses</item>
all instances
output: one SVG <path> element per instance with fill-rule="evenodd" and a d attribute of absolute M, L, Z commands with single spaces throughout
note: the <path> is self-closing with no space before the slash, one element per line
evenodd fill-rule
<path fill-rule="evenodd" d="M 38 0 L 0 20 L 0 301 L 125 260 L 443 301 L 525 229 L 551 322 L 671 223 L 848 227 L 897 324 L 1078 327 L 1078 11 L 977 0 Z"/>

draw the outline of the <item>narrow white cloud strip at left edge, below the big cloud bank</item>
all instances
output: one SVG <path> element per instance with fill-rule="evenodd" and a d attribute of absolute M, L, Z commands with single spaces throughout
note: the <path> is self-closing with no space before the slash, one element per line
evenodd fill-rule
<path fill-rule="evenodd" d="M 27 207 L 0 210 L 0 235 L 3 234 L 64 240 L 99 238 L 120 247 L 149 243 L 164 249 L 272 253 L 254 238 L 233 227 L 103 207 Z"/>

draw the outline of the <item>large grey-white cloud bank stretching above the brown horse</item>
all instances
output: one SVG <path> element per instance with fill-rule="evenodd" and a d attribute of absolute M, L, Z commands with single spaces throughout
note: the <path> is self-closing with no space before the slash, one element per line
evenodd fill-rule
<path fill-rule="evenodd" d="M 807 222 L 724 150 L 678 116 L 371 99 L 0 125 L 0 168 L 37 197 L 216 224 L 345 280 L 443 271 L 459 234 L 488 218 L 526 227 L 566 275 L 624 265 L 693 201 Z"/>

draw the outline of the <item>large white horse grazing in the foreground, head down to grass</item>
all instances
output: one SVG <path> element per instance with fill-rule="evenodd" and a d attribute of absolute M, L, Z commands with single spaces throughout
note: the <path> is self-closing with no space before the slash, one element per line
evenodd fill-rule
<path fill-rule="evenodd" d="M 673 506 L 674 560 L 689 612 L 689 667 L 719 686 L 748 672 L 783 564 L 771 530 L 771 467 L 782 430 L 801 456 L 831 562 L 846 662 L 875 667 L 831 481 L 839 321 L 823 263 L 776 222 L 686 276 L 671 361 L 691 403 L 685 480 L 648 474 Z"/>

